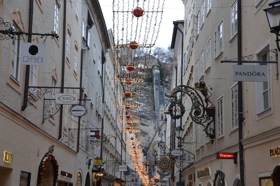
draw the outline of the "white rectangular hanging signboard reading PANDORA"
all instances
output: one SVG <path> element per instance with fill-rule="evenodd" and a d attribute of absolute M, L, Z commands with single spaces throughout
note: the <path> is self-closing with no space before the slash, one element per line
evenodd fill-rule
<path fill-rule="evenodd" d="M 233 65 L 233 81 L 267 82 L 267 65 Z"/>

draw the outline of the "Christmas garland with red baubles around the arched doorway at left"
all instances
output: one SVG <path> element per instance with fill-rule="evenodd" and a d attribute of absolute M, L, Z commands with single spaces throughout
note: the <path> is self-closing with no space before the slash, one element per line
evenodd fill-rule
<path fill-rule="evenodd" d="M 42 161 L 40 162 L 39 165 L 39 169 L 38 169 L 38 177 L 37 177 L 37 185 L 40 185 L 42 183 L 42 179 L 43 179 L 43 171 L 46 169 L 45 168 L 45 164 L 46 162 L 50 160 L 51 163 L 53 164 L 53 186 L 56 186 L 56 183 L 58 182 L 58 164 L 57 164 L 57 160 L 55 158 L 54 155 L 52 155 L 51 153 L 46 153 L 44 155 L 44 157 L 42 158 Z"/>

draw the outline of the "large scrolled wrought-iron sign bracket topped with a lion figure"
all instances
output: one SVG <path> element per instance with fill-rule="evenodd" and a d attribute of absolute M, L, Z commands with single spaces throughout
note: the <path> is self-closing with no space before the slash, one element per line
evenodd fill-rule
<path fill-rule="evenodd" d="M 205 84 L 204 84 L 205 86 Z M 207 86 L 205 86 L 207 87 Z M 211 142 L 213 143 L 213 139 L 215 138 L 215 129 L 211 128 L 211 123 L 215 121 L 215 107 L 213 107 L 213 104 L 211 103 L 209 98 L 206 98 L 206 94 L 203 94 L 205 96 L 205 102 L 206 104 L 208 104 L 208 102 L 210 102 L 211 106 L 207 107 L 204 106 L 204 101 L 202 99 L 202 97 L 199 95 L 199 93 L 197 92 L 197 90 L 199 90 L 201 88 L 198 87 L 190 87 L 190 86 L 186 86 L 186 85 L 180 85 L 180 86 L 176 86 L 172 91 L 171 91 L 171 95 L 168 96 L 169 98 L 173 98 L 171 99 L 171 103 L 169 106 L 169 114 L 172 118 L 173 114 L 173 108 L 174 105 L 176 104 L 182 104 L 181 100 L 178 101 L 177 100 L 177 96 L 176 93 L 178 92 L 183 92 L 186 93 L 191 101 L 192 101 L 192 107 L 190 109 L 190 117 L 192 118 L 192 121 L 202 125 L 203 126 L 203 131 L 205 131 L 206 133 L 206 137 L 209 137 L 211 139 Z M 201 90 L 200 90 L 201 91 Z M 206 90 L 208 91 L 208 89 Z M 181 105 L 178 105 L 179 107 L 181 107 Z M 182 116 L 181 116 L 182 117 Z M 176 117 L 176 119 L 178 119 Z"/>

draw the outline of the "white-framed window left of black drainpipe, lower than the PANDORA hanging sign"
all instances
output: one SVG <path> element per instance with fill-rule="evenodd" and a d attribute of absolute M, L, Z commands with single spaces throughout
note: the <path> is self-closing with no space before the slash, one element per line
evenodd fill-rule
<path fill-rule="evenodd" d="M 238 86 L 237 82 L 230 90 L 231 129 L 238 127 Z"/>

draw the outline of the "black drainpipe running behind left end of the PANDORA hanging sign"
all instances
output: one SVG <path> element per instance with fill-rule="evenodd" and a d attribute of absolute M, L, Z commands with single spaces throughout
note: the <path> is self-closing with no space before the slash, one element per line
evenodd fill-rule
<path fill-rule="evenodd" d="M 242 61 L 242 33 L 241 33 L 241 0 L 237 0 L 237 55 L 238 61 Z M 242 65 L 242 63 L 238 63 L 238 65 Z M 243 157 L 243 134 L 242 134 L 242 123 L 244 121 L 243 118 L 243 100 L 242 100 L 242 82 L 237 82 L 238 88 L 238 133 L 239 133 L 239 166 L 240 166 L 240 183 L 241 186 L 244 186 L 244 157 Z"/>

